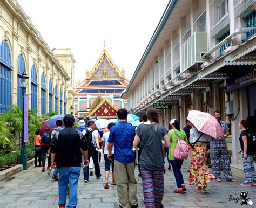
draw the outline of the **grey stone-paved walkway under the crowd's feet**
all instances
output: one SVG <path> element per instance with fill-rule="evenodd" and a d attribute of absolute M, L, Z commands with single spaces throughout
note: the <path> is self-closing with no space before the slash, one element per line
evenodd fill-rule
<path fill-rule="evenodd" d="M 103 177 L 97 180 L 95 175 L 90 176 L 89 183 L 84 183 L 81 172 L 77 207 L 118 207 L 116 186 L 110 186 L 108 190 L 103 188 L 105 181 L 103 157 L 100 170 Z M 186 161 L 184 161 L 182 171 L 185 184 L 187 184 Z M 48 176 L 46 172 L 41 172 L 41 168 L 30 167 L 28 170 L 14 175 L 9 181 L 1 181 L 0 207 L 58 207 L 58 182 L 53 181 L 51 176 Z M 139 207 L 145 207 L 142 179 L 138 177 L 137 166 L 136 177 Z M 212 181 L 208 184 L 210 190 L 204 193 L 195 193 L 192 186 L 186 185 L 187 193 L 183 195 L 173 193 L 177 186 L 172 170 L 166 169 L 164 179 L 164 207 L 246 207 L 246 205 L 240 204 L 241 200 L 238 203 L 235 203 L 235 200 L 229 200 L 230 195 L 233 198 L 240 198 L 242 190 L 248 191 L 247 198 L 250 197 L 254 206 L 256 205 L 256 186 L 250 188 L 240 186 L 243 181 L 241 178 L 236 178 L 238 183 L 226 182 L 225 179 L 223 182 Z M 111 183 L 111 179 L 109 181 Z"/>

